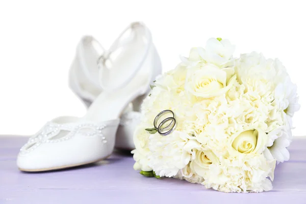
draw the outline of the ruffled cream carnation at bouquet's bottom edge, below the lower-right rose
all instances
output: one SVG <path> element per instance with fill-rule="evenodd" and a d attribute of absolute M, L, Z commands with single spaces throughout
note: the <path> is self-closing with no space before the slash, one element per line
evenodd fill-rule
<path fill-rule="evenodd" d="M 220 158 L 220 165 L 211 166 L 202 184 L 223 192 L 269 191 L 272 184 L 267 177 L 274 171 L 274 167 L 275 162 L 266 162 L 263 155 L 253 158 Z"/>

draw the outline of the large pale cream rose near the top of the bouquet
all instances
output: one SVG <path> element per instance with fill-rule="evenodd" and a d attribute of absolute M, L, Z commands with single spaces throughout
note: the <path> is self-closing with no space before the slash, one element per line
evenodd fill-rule
<path fill-rule="evenodd" d="M 234 84 L 236 75 L 227 80 L 226 71 L 207 64 L 197 70 L 189 69 L 185 89 L 199 97 L 210 98 L 224 94 Z"/>

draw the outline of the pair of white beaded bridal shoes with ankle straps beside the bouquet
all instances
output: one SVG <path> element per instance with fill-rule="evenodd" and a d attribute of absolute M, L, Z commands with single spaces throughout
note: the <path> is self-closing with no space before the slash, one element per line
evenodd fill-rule
<path fill-rule="evenodd" d="M 104 54 L 99 57 L 100 52 Z M 115 141 L 118 147 L 131 148 L 139 106 L 160 69 L 150 33 L 141 23 L 127 28 L 108 51 L 92 37 L 83 38 L 70 70 L 70 86 L 92 104 L 82 118 L 63 116 L 47 122 L 20 149 L 18 168 L 46 171 L 93 163 L 110 156 Z"/>

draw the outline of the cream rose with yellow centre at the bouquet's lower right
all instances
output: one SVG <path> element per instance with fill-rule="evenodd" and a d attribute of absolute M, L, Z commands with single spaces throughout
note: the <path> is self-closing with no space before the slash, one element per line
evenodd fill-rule
<path fill-rule="evenodd" d="M 267 143 L 267 134 L 261 129 L 246 129 L 229 139 L 230 155 L 259 155 Z"/>

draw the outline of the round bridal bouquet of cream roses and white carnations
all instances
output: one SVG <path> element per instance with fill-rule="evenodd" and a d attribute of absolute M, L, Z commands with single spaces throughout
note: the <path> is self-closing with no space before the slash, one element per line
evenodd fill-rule
<path fill-rule="evenodd" d="M 211 38 L 151 85 L 135 170 L 223 192 L 272 189 L 276 163 L 289 160 L 296 85 L 278 59 L 234 49 Z"/>

